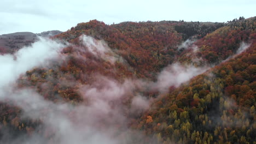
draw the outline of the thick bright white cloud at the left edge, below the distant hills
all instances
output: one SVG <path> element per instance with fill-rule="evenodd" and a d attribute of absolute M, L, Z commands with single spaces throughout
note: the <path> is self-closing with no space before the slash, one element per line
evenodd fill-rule
<path fill-rule="evenodd" d="M 40 38 L 31 46 L 24 47 L 13 55 L 0 55 L 0 87 L 15 82 L 20 74 L 39 65 L 46 65 L 51 58 L 58 57 L 65 45 L 56 41 Z"/>

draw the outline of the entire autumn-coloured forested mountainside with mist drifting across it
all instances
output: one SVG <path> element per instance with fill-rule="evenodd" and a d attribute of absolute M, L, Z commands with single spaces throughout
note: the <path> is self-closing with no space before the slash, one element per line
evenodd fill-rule
<path fill-rule="evenodd" d="M 1 142 L 255 143 L 255 24 L 91 20 L 41 39 L 62 48 L 0 95 Z"/>

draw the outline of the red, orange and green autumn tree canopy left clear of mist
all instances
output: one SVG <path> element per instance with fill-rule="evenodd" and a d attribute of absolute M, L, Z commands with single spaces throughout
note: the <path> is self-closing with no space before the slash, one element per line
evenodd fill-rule
<path fill-rule="evenodd" d="M 125 79 L 155 82 L 169 64 L 211 65 L 205 73 L 177 88 L 171 86 L 165 93 L 135 86 L 133 92 L 120 99 L 131 107 L 131 99 L 138 93 L 154 98 L 144 113 L 131 115 L 124 110 L 124 115 L 129 117 L 128 127 L 148 136 L 133 142 L 255 143 L 255 24 L 255 18 L 245 20 L 244 17 L 228 23 L 148 21 L 106 25 L 97 20 L 78 23 L 52 38 L 72 44 L 61 51 L 66 61 L 27 71 L 20 76 L 18 88 L 32 87 L 54 103 L 86 104 L 77 90 L 79 85 L 94 83 L 95 75 L 118 82 Z M 117 60 L 113 63 L 86 51 L 80 38 L 83 34 L 104 40 L 111 50 L 107 56 Z M 187 39 L 193 44 L 179 49 Z M 248 49 L 236 56 L 242 43 L 248 44 Z M 4 47 L 0 51 L 8 53 Z M 62 81 L 77 83 L 62 85 Z M 13 131 L 13 137 L 38 130 L 42 123 L 39 119 L 24 119 L 21 115 L 19 107 L 2 102 L 1 129 Z M 46 132 L 40 133 L 50 137 Z M 150 141 L 150 137 L 156 141 Z"/>

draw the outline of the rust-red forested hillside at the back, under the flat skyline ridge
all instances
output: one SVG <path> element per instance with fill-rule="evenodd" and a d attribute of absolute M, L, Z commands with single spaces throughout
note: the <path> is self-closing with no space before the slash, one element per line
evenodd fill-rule
<path fill-rule="evenodd" d="M 185 40 L 183 37 L 200 38 L 223 25 L 223 23 L 162 21 L 123 22 L 109 26 L 92 20 L 79 23 L 69 31 L 57 35 L 56 38 L 75 44 L 79 43 L 81 34 L 103 39 L 109 47 L 117 50 L 131 67 L 135 68 L 138 77 L 146 78 L 152 77 L 150 74 L 160 71 L 174 61 L 181 53 L 177 51 L 177 47 Z"/>

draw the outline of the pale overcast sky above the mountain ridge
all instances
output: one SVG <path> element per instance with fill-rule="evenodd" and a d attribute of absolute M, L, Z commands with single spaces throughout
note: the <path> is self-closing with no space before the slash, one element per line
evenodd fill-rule
<path fill-rule="evenodd" d="M 0 0 L 0 34 L 67 31 L 79 22 L 123 21 L 226 22 L 256 16 L 255 0 Z"/>

